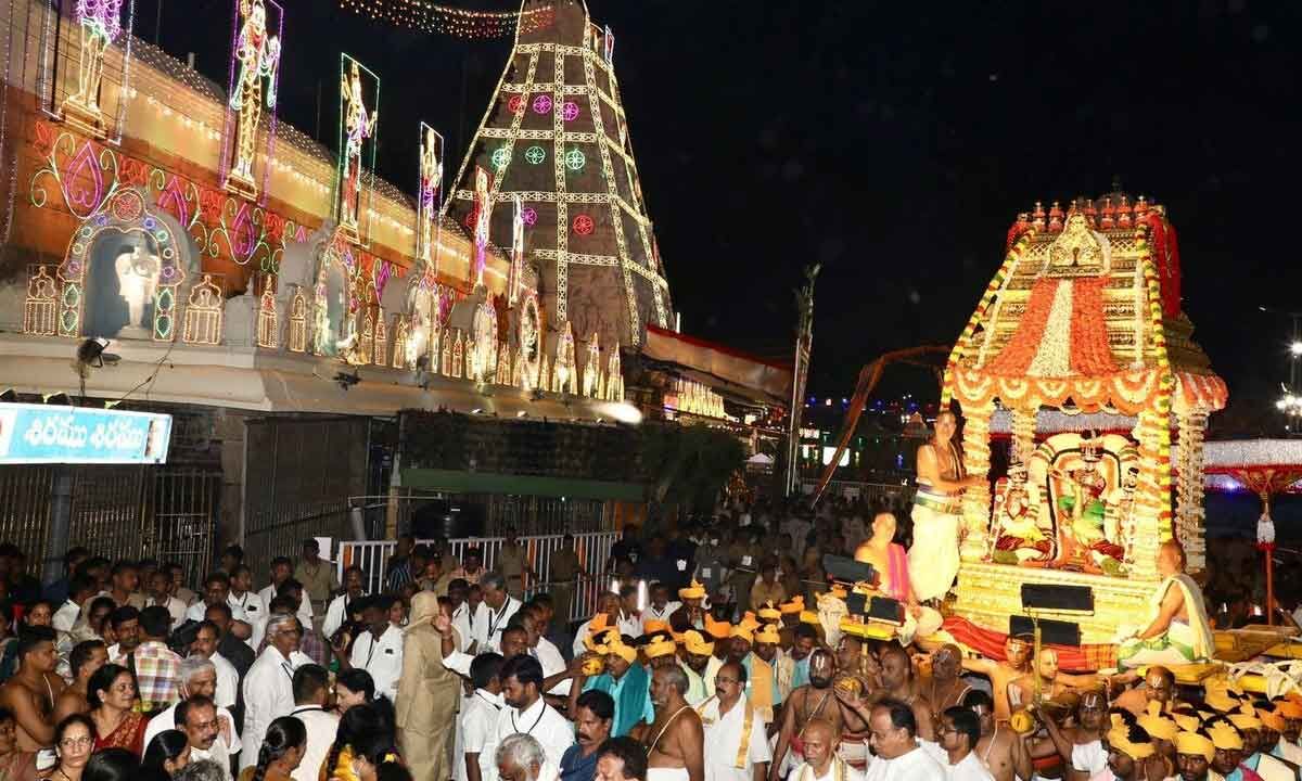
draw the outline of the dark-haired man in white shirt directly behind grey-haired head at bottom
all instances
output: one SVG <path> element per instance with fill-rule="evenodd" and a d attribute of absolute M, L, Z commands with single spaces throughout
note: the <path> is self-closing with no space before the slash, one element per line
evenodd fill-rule
<path fill-rule="evenodd" d="M 482 581 L 480 581 L 482 582 Z M 497 746 L 513 734 L 527 734 L 538 741 L 547 764 L 560 767 L 565 750 L 574 745 L 574 725 L 543 700 L 543 665 L 533 656 L 508 659 L 500 673 L 506 707 L 497 713 L 497 724 L 479 754 L 482 781 L 497 781 L 495 754 Z"/>

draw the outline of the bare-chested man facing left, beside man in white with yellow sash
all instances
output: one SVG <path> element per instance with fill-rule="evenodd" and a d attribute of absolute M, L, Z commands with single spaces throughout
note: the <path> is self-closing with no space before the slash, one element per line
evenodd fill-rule
<path fill-rule="evenodd" d="M 647 747 L 646 781 L 704 781 L 706 735 L 697 709 L 687 704 L 687 676 L 677 665 L 651 676 L 655 722 L 630 733 Z"/>

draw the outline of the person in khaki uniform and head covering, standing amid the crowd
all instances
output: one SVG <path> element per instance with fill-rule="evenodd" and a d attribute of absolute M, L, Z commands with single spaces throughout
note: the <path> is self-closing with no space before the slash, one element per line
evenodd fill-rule
<path fill-rule="evenodd" d="M 452 777 L 461 678 L 443 665 L 443 637 L 431 623 L 437 613 L 439 597 L 434 594 L 422 591 L 411 597 L 411 620 L 402 640 L 402 674 L 393 703 L 398 745 L 414 781 Z"/>

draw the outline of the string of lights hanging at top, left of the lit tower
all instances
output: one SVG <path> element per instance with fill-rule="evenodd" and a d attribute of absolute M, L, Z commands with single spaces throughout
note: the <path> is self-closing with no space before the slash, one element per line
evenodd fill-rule
<path fill-rule="evenodd" d="M 466 40 L 492 40 L 548 27 L 556 18 L 551 5 L 514 10 L 466 10 L 428 0 L 339 0 L 342 10 L 421 33 L 450 35 Z"/>

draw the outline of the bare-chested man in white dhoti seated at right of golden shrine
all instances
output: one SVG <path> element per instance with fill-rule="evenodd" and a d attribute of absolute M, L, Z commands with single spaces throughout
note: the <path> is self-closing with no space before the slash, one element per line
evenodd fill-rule
<path fill-rule="evenodd" d="M 1185 574 L 1185 551 L 1168 540 L 1157 549 L 1163 581 L 1148 603 L 1146 622 L 1122 630 L 1117 665 L 1138 668 L 1206 661 L 1216 643 L 1198 583 Z"/>

